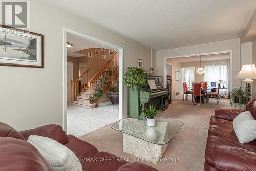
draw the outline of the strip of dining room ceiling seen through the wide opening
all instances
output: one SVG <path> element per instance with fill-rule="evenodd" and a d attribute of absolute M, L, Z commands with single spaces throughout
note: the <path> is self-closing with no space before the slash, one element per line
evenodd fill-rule
<path fill-rule="evenodd" d="M 180 63 L 200 62 L 200 56 L 178 57 L 174 59 Z M 226 60 L 226 59 L 230 59 L 229 53 L 202 55 L 202 61 L 214 61 L 214 60 Z"/>

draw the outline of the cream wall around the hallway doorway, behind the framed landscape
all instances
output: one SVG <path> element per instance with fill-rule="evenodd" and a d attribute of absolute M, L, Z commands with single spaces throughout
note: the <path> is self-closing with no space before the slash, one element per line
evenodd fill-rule
<path fill-rule="evenodd" d="M 1 122 L 17 130 L 45 124 L 63 126 L 63 27 L 123 47 L 124 71 L 136 66 L 136 58 L 144 59 L 146 70 L 150 67 L 149 48 L 47 1 L 30 1 L 30 31 L 44 35 L 45 68 L 0 66 Z M 124 115 L 127 115 L 127 89 L 124 88 Z"/>

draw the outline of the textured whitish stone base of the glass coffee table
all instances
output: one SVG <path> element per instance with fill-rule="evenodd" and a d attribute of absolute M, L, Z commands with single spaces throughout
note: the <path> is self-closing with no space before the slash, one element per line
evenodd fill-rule
<path fill-rule="evenodd" d="M 140 159 L 157 164 L 168 144 L 158 145 L 123 133 L 123 151 Z"/>

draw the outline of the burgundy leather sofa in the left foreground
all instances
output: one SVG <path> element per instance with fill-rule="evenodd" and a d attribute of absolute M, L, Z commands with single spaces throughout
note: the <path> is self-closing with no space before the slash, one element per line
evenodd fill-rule
<path fill-rule="evenodd" d="M 26 142 L 30 135 L 49 137 L 71 149 L 80 159 L 83 171 L 157 171 L 142 163 L 129 163 L 110 153 L 99 152 L 92 144 L 73 135 L 66 135 L 58 125 L 46 125 L 18 132 L 2 122 L 0 122 L 0 171 L 53 171 L 52 166 L 39 151 Z M 104 158 L 104 161 L 100 158 Z"/>

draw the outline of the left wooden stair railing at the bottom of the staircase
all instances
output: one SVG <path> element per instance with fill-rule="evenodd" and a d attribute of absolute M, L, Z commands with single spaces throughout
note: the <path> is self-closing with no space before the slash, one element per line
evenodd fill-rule
<path fill-rule="evenodd" d="M 71 81 L 71 87 L 72 87 L 72 101 L 77 100 L 77 96 L 81 96 L 81 92 L 86 91 L 87 82 L 88 82 L 88 71 L 87 69 L 84 71 L 76 80 Z"/>

